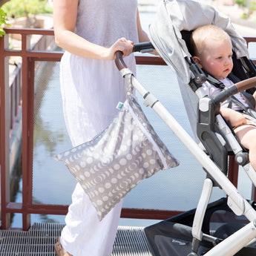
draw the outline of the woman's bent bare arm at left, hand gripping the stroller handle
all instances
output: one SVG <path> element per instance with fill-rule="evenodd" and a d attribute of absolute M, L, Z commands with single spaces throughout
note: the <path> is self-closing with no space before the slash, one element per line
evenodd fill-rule
<path fill-rule="evenodd" d="M 109 48 L 95 45 L 74 33 L 76 27 L 78 0 L 53 1 L 53 25 L 56 45 L 70 53 L 91 59 L 114 59 L 114 53 L 121 50 L 123 56 L 131 54 L 133 42 L 118 39 Z"/>

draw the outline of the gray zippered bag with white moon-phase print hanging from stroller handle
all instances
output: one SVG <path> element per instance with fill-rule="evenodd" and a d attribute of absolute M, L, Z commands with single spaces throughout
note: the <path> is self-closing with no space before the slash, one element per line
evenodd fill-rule
<path fill-rule="evenodd" d="M 105 131 L 56 160 L 64 161 L 84 188 L 99 220 L 141 180 L 179 164 L 131 96 Z"/>

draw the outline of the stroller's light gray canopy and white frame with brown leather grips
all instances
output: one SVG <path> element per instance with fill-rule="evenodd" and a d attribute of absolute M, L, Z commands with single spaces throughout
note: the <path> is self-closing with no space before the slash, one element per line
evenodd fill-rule
<path fill-rule="evenodd" d="M 185 13 L 184 16 L 183 13 Z M 195 15 L 196 13 L 198 16 Z M 214 97 L 204 96 L 201 93 L 200 88 L 203 82 L 206 81 L 206 76 L 198 65 L 193 62 L 186 41 L 182 35 L 183 30 L 189 32 L 204 24 L 216 24 L 223 27 L 229 33 L 229 36 L 232 38 L 232 44 L 234 43 L 235 46 L 235 55 L 237 59 L 240 59 L 243 68 L 246 70 L 246 77 L 239 77 L 242 80 L 241 82 L 235 83 Z M 213 7 L 200 4 L 198 1 L 163 0 L 157 16 L 153 24 L 151 24 L 149 36 L 152 45 L 149 44 L 148 49 L 151 48 L 152 50 L 152 48 L 155 48 L 163 60 L 173 68 L 179 78 L 179 84 L 182 83 L 188 88 L 184 88 L 186 93 L 193 93 L 197 98 L 196 100 L 190 100 L 191 103 L 193 101 L 198 102 L 197 125 L 191 122 L 191 127 L 195 129 L 197 126 L 197 131 L 194 131 L 194 134 L 197 135 L 197 138 L 202 142 L 204 148 L 206 148 L 206 151 L 204 151 L 204 148 L 201 148 L 186 133 L 183 127 L 171 116 L 156 97 L 146 91 L 137 79 L 132 76 L 131 83 L 145 99 L 144 105 L 153 108 L 180 142 L 188 148 L 188 151 L 203 166 L 207 174 L 206 180 L 203 183 L 200 200 L 197 203 L 197 209 L 194 212 L 194 220 L 191 226 L 191 249 L 187 255 L 202 255 L 200 254 L 200 244 L 204 241 L 210 242 L 212 248 L 207 252 L 203 252 L 203 255 L 235 255 L 244 246 L 255 246 L 256 244 L 256 211 L 255 203 L 249 203 L 228 177 L 226 177 L 229 152 L 232 151 L 232 154 L 235 155 L 236 162 L 243 166 L 246 174 L 248 174 L 249 179 L 255 186 L 256 172 L 249 163 L 248 152 L 240 145 L 232 129 L 229 128 L 223 116 L 220 115 L 220 102 L 223 102 L 236 93 L 254 88 L 256 84 L 256 69 L 246 59 L 249 57 L 249 53 L 244 39 L 236 33 L 232 24 L 230 24 L 230 20 L 226 16 L 217 13 Z M 145 52 L 145 49 L 146 47 L 143 45 L 142 51 Z M 140 47 L 136 47 L 136 50 L 140 51 Z M 122 76 L 125 76 L 126 73 L 131 73 L 122 60 L 122 53 L 116 53 L 116 66 L 122 73 Z M 196 115 L 195 112 L 192 114 Z M 222 157 L 220 157 L 220 152 L 223 155 Z M 237 216 L 243 215 L 249 220 L 246 226 L 238 229 L 223 240 L 202 232 L 203 220 L 206 216 L 206 210 L 209 206 L 209 200 L 214 186 L 219 186 L 226 192 L 228 197 L 227 205 L 229 209 L 232 209 L 234 214 Z"/>

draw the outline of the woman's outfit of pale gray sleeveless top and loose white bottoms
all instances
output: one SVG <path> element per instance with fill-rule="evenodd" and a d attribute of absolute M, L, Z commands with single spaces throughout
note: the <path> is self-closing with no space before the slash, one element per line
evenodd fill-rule
<path fill-rule="evenodd" d="M 137 0 L 80 0 L 76 33 L 106 47 L 121 37 L 138 42 Z M 135 72 L 134 56 L 126 57 L 125 63 Z M 114 118 L 117 103 L 125 99 L 124 79 L 114 61 L 68 52 L 60 67 L 65 123 L 76 146 L 91 140 Z M 111 255 L 121 209 L 122 202 L 99 222 L 88 195 L 77 184 L 62 230 L 62 246 L 73 256 Z"/>

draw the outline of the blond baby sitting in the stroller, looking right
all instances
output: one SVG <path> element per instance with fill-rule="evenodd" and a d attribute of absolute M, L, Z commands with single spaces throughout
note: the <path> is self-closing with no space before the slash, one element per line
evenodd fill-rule
<path fill-rule="evenodd" d="M 233 82 L 227 78 L 233 68 L 232 42 L 228 33 L 215 25 L 198 27 L 192 33 L 191 46 L 194 50 L 193 59 L 200 68 L 223 82 L 226 88 L 233 85 Z M 216 88 L 209 82 L 203 83 L 203 90 L 208 96 L 220 93 L 220 88 Z M 256 92 L 253 96 L 256 99 Z M 241 93 L 237 93 L 235 97 L 249 107 Z M 232 108 L 228 106 L 229 100 L 226 100 L 220 105 L 220 113 L 232 126 L 243 147 L 249 149 L 249 160 L 256 171 L 256 122 L 246 119 L 240 113 L 242 108 L 234 102 L 232 102 Z"/>

